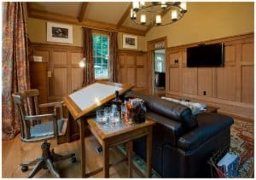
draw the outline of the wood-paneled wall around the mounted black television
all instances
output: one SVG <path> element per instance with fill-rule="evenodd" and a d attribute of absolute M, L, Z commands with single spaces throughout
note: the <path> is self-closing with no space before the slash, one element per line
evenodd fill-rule
<path fill-rule="evenodd" d="M 250 33 L 198 43 L 223 42 L 224 67 L 187 67 L 186 49 L 197 44 L 167 49 L 166 96 L 195 99 L 253 119 L 253 38 Z"/>

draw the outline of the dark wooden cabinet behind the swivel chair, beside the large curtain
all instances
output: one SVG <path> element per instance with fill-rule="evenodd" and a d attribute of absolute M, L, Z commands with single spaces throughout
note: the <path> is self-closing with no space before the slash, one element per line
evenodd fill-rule
<path fill-rule="evenodd" d="M 39 104 L 48 102 L 48 77 L 47 62 L 30 61 L 30 82 L 31 89 L 38 89 Z M 47 113 L 47 108 L 42 108 L 41 113 Z"/>

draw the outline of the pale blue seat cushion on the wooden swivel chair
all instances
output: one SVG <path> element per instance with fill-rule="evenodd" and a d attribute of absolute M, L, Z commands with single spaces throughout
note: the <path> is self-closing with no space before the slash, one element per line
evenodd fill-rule
<path fill-rule="evenodd" d="M 64 119 L 59 119 L 57 120 L 57 122 L 58 122 L 58 132 L 61 133 L 64 125 Z M 53 135 L 54 134 L 53 122 L 42 123 L 42 124 L 32 126 L 32 128 L 30 129 L 30 134 L 32 137 Z"/>

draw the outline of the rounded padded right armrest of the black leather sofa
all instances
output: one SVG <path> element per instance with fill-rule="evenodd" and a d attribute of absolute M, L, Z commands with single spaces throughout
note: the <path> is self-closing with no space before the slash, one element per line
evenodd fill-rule
<path fill-rule="evenodd" d="M 230 128 L 234 120 L 218 113 L 200 113 L 196 116 L 198 127 L 181 136 L 177 140 L 177 146 L 182 149 L 197 148 L 207 142 L 213 136 Z"/>

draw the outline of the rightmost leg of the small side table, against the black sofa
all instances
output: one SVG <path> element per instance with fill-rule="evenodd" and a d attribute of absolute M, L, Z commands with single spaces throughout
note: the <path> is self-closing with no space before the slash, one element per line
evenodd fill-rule
<path fill-rule="evenodd" d="M 147 176 L 151 177 L 151 164 L 152 164 L 152 126 L 149 127 L 147 135 Z"/>

